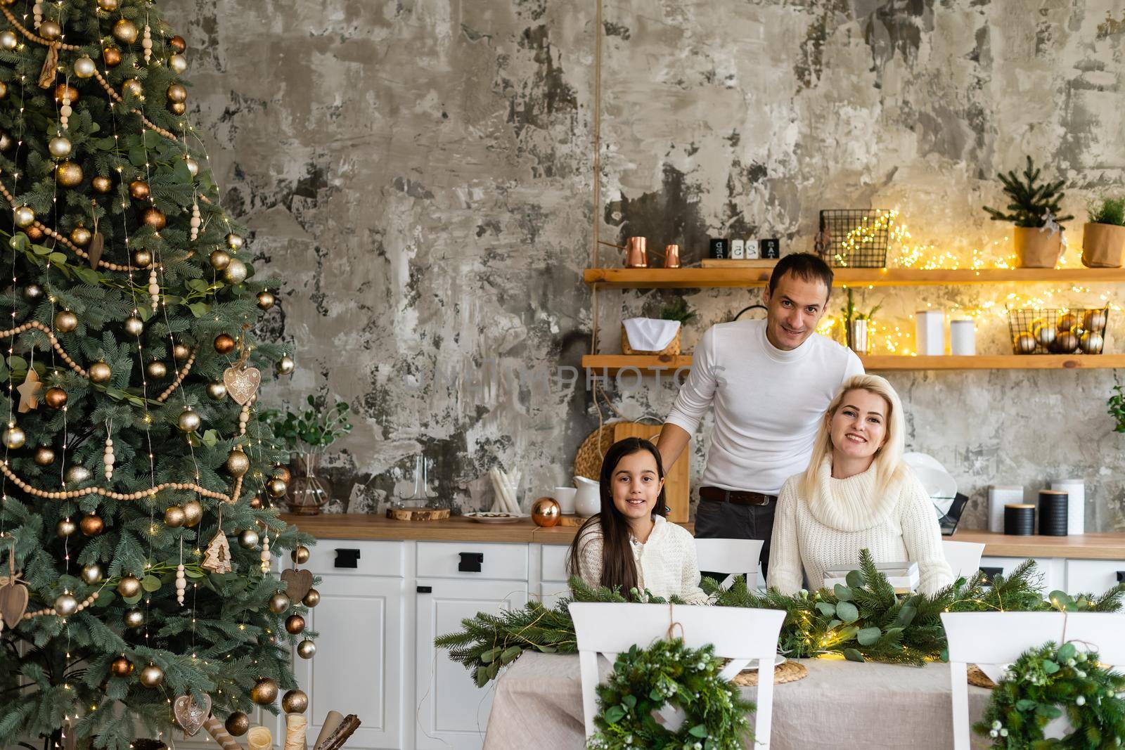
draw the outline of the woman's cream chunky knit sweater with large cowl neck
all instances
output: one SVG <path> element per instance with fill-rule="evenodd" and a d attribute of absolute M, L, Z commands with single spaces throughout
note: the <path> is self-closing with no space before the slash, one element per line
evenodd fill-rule
<path fill-rule="evenodd" d="M 909 469 L 885 497 L 874 496 L 874 466 L 835 479 L 831 459 L 826 458 L 813 497 L 803 497 L 801 478 L 790 477 L 777 497 L 770 586 L 784 594 L 798 591 L 803 566 L 809 588 L 816 590 L 829 568 L 858 566 L 864 548 L 875 562 L 917 561 L 921 594 L 934 594 L 953 582 L 934 504 Z"/>

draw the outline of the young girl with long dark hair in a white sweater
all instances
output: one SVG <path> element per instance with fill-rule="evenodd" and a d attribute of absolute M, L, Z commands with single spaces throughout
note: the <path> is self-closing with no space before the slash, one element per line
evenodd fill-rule
<path fill-rule="evenodd" d="M 665 521 L 664 468 L 647 440 L 627 437 L 610 446 L 602 461 L 602 509 L 570 543 L 570 575 L 591 586 L 648 589 L 706 604 L 700 588 L 695 540 Z"/>

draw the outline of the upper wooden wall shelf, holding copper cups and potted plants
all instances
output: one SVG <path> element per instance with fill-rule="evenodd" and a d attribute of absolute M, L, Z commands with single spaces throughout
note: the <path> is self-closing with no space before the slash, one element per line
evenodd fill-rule
<path fill-rule="evenodd" d="M 962 283 L 1120 283 L 1125 269 L 834 269 L 840 286 L 956 286 Z M 772 269 L 586 269 L 587 284 L 611 289 L 764 287 Z"/>

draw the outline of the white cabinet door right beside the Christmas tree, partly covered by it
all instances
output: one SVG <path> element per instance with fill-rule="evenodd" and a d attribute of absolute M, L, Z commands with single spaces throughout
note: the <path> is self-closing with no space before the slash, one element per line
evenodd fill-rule
<path fill-rule="evenodd" d="M 308 694 L 308 737 L 315 739 L 325 715 L 339 711 L 362 722 L 349 748 L 400 748 L 404 580 L 327 573 L 317 590 L 321 603 L 306 616 L 320 633 L 316 654 L 294 654 L 294 672 Z"/>

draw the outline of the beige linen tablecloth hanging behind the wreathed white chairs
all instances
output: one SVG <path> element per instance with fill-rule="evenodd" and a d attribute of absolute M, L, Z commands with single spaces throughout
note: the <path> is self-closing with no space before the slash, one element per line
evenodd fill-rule
<path fill-rule="evenodd" d="M 804 679 L 774 686 L 772 749 L 953 747 L 948 665 L 803 663 Z M 742 690 L 754 698 L 756 688 Z M 988 698 L 989 690 L 969 687 L 971 721 Z M 574 750 L 583 740 L 578 657 L 524 653 L 496 685 L 485 749 Z"/>

